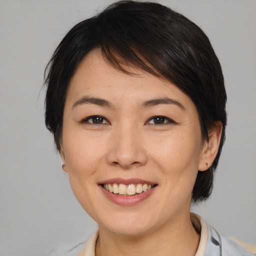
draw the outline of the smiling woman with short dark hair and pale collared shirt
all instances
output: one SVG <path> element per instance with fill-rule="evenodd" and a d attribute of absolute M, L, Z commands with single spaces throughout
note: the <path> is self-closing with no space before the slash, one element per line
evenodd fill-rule
<path fill-rule="evenodd" d="M 190 213 L 211 193 L 226 125 L 221 67 L 198 26 L 116 2 L 75 25 L 46 72 L 46 126 L 98 223 L 79 255 L 252 255 Z"/>

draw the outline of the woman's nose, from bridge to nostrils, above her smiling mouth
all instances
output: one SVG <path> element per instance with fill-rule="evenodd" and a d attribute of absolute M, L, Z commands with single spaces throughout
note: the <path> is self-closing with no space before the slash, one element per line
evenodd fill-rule
<path fill-rule="evenodd" d="M 147 162 L 140 132 L 132 127 L 115 129 L 109 141 L 107 162 L 123 169 L 142 166 Z"/>

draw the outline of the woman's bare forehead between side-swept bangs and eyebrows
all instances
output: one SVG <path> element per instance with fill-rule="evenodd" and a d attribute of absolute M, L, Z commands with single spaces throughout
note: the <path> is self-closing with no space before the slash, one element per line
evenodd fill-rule
<path fill-rule="evenodd" d="M 185 108 L 193 104 L 191 99 L 171 82 L 146 71 L 125 66 L 124 73 L 111 66 L 100 50 L 90 51 L 79 63 L 70 80 L 67 101 L 81 96 L 100 96 L 110 100 L 149 100 L 171 97 L 183 102 Z"/>

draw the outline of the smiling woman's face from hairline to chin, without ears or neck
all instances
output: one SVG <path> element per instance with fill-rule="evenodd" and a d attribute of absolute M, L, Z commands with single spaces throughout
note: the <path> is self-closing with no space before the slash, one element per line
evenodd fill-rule
<path fill-rule="evenodd" d="M 123 235 L 187 217 L 204 161 L 191 99 L 170 82 L 129 71 L 137 75 L 115 70 L 99 51 L 85 56 L 70 81 L 61 143 L 79 203 L 99 228 Z"/>

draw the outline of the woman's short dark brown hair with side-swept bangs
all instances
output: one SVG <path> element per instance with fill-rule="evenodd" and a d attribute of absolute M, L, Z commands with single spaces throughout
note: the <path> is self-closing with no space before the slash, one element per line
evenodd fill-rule
<path fill-rule="evenodd" d="M 92 49 L 114 68 L 142 69 L 167 79 L 196 106 L 203 140 L 215 121 L 223 128 L 212 166 L 198 171 L 192 200 L 207 198 L 225 137 L 226 93 L 219 61 L 208 37 L 183 15 L 155 2 L 132 0 L 112 3 L 68 31 L 45 68 L 45 124 L 60 150 L 63 109 L 69 81 L 81 59 Z M 130 74 L 130 73 L 129 73 Z"/>

